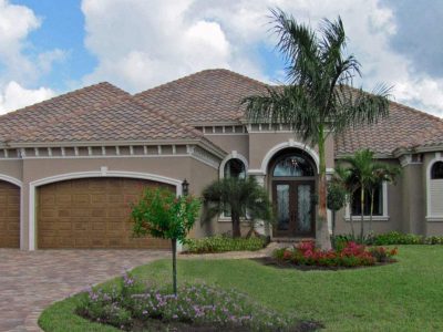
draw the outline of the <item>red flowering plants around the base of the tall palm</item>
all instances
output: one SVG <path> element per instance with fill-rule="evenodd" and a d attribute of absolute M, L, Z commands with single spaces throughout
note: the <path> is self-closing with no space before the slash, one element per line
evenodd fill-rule
<path fill-rule="evenodd" d="M 360 267 L 373 266 L 375 262 L 393 261 L 396 248 L 371 248 L 356 242 L 340 242 L 340 249 L 322 251 L 315 247 L 312 241 L 301 242 L 293 248 L 282 248 L 274 251 L 274 258 L 297 266 L 320 267 Z"/>

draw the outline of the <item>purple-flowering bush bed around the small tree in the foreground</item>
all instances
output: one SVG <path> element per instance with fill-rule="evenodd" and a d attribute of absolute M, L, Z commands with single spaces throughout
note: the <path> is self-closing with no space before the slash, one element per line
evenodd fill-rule
<path fill-rule="evenodd" d="M 181 324 L 217 326 L 220 331 L 292 331 L 296 322 L 234 290 L 186 284 L 175 295 L 168 288 L 142 286 L 130 274 L 119 288 L 84 292 L 76 313 L 126 331 L 134 326 L 156 331 L 159 324 L 167 331 L 176 331 Z"/>

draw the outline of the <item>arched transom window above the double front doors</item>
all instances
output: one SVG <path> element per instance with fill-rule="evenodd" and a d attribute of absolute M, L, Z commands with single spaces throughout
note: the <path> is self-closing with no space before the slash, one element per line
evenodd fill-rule
<path fill-rule="evenodd" d="M 313 167 L 302 155 L 291 154 L 280 157 L 274 167 L 275 177 L 315 176 Z"/>

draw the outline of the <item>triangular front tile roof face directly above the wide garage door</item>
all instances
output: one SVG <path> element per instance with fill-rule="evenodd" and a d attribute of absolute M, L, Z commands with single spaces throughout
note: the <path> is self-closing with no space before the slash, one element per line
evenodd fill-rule
<path fill-rule="evenodd" d="M 193 127 L 167 118 L 132 96 L 40 125 L 20 135 L 20 142 L 134 142 L 205 139 Z"/>

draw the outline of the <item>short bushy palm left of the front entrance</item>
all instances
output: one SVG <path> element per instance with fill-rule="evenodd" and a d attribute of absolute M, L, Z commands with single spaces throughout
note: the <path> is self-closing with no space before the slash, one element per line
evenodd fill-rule
<path fill-rule="evenodd" d="M 215 180 L 204 189 L 203 198 L 207 219 L 220 215 L 226 207 L 230 208 L 234 238 L 241 237 L 240 219 L 244 217 L 247 217 L 251 230 L 257 220 L 269 222 L 272 219 L 269 195 L 254 177 Z"/>

